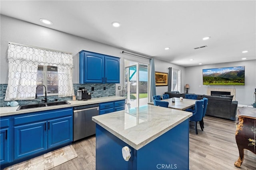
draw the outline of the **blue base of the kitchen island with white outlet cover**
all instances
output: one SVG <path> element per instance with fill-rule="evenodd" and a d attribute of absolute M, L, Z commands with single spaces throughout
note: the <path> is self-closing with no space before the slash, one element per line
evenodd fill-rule
<path fill-rule="evenodd" d="M 131 149 L 125 161 L 122 147 Z M 136 150 L 96 124 L 97 170 L 189 169 L 189 121 L 170 129 L 144 147 Z"/>

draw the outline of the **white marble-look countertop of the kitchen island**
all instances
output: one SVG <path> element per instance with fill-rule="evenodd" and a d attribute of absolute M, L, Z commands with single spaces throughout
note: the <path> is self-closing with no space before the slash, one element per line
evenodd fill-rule
<path fill-rule="evenodd" d="M 187 111 L 144 105 L 94 116 L 92 120 L 139 150 L 191 116 Z"/>

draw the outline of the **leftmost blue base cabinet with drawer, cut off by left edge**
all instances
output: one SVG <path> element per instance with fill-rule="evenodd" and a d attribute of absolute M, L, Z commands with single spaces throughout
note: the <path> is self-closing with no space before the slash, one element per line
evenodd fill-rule
<path fill-rule="evenodd" d="M 0 164 L 6 164 L 12 161 L 12 129 L 11 117 L 0 118 Z"/>

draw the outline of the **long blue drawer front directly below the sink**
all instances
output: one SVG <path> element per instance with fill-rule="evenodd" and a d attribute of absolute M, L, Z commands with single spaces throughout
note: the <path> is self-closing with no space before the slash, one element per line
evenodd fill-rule
<path fill-rule="evenodd" d="M 33 123 L 36 121 L 44 121 L 47 119 L 54 119 L 58 117 L 64 117 L 73 114 L 73 107 L 63 109 L 53 109 L 47 111 L 38 111 L 34 113 L 22 114 L 15 116 L 13 119 L 13 125 L 22 125 L 26 123 Z"/>

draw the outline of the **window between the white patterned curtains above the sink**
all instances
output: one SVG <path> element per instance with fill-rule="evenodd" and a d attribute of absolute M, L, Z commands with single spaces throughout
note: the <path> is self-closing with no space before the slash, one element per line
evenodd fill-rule
<path fill-rule="evenodd" d="M 58 67 L 38 65 L 36 86 L 43 84 L 48 95 L 58 95 L 58 83 Z M 39 86 L 36 90 L 38 96 L 44 95 L 44 86 Z"/>

